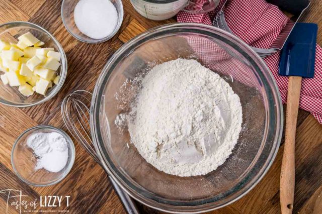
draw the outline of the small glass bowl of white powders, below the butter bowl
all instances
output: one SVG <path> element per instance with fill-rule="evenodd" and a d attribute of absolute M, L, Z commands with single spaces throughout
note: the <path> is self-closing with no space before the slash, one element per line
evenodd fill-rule
<path fill-rule="evenodd" d="M 36 126 L 16 140 L 11 163 L 17 176 L 27 184 L 48 186 L 61 181 L 75 160 L 70 137 L 52 126 Z"/>

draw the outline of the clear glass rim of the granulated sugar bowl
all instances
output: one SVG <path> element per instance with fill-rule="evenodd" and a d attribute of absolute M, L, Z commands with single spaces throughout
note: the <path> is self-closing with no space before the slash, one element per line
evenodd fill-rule
<path fill-rule="evenodd" d="M 121 0 L 115 0 L 116 2 L 118 2 L 118 4 L 120 5 L 120 14 L 118 14 L 118 21 L 117 21 L 117 25 L 114 29 L 114 31 L 108 35 L 107 37 L 104 37 L 102 39 L 93 39 L 95 41 L 89 41 L 89 40 L 84 40 L 82 39 L 81 37 L 77 36 L 76 34 L 74 34 L 69 28 L 68 26 L 66 25 L 66 20 L 65 18 L 63 17 L 63 11 L 64 11 L 64 3 L 65 3 L 66 0 L 63 0 L 62 3 L 61 3 L 61 8 L 60 8 L 60 16 L 61 16 L 61 20 L 62 20 L 62 23 L 64 24 L 65 26 L 65 29 L 68 31 L 68 33 L 74 37 L 75 39 L 77 39 L 78 41 L 81 41 L 81 42 L 85 42 L 85 43 L 89 43 L 89 44 L 97 44 L 97 43 L 102 43 L 102 42 L 106 42 L 107 40 L 110 40 L 113 36 L 115 36 L 115 34 L 117 34 L 117 32 L 120 30 L 121 28 L 121 25 L 123 23 L 123 17 L 124 17 L 124 10 L 123 10 L 123 3 Z M 80 1 L 80 0 L 79 0 Z"/>

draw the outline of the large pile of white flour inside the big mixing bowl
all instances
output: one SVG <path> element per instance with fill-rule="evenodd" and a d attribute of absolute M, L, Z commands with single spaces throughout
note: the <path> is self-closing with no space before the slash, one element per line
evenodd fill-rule
<path fill-rule="evenodd" d="M 240 100 L 229 84 L 185 59 L 152 68 L 127 117 L 131 142 L 142 157 L 178 176 L 204 175 L 223 164 L 241 122 Z"/>

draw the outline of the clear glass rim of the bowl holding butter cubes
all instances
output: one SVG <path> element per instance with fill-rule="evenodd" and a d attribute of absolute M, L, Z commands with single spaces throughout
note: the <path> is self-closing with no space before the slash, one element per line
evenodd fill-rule
<path fill-rule="evenodd" d="M 40 31 L 42 31 L 43 33 L 47 34 L 50 39 L 57 45 L 58 47 L 58 51 L 61 55 L 61 71 L 60 71 L 60 79 L 59 79 L 59 84 L 56 85 L 55 89 L 52 91 L 52 93 L 49 95 L 49 96 L 44 96 L 44 98 L 40 99 L 39 101 L 37 102 L 32 102 L 32 103 L 29 103 L 29 104 L 24 104 L 24 103 L 12 103 L 8 100 L 6 101 L 3 101 L 2 99 L 0 99 L 0 103 L 2 104 L 5 104 L 5 105 L 9 105 L 9 106 L 13 106 L 13 107 L 18 107 L 18 108 L 26 108 L 26 107 L 30 107 L 30 106 L 34 106 L 34 105 L 38 105 L 38 104 L 41 104 L 41 103 L 44 103 L 46 101 L 48 101 L 49 99 L 53 98 L 58 92 L 59 90 L 62 88 L 64 82 L 65 82 L 65 79 L 66 79 L 66 76 L 67 76 L 67 57 L 66 57 L 66 54 L 65 54 L 65 51 L 63 49 L 63 47 L 61 46 L 61 44 L 58 42 L 58 40 L 51 34 L 49 33 L 47 30 L 45 30 L 44 28 L 40 27 L 39 25 L 36 25 L 34 23 L 31 23 L 31 22 L 7 22 L 7 23 L 4 23 L 4 24 L 1 24 L 0 25 L 0 28 L 6 26 L 6 25 L 18 25 L 19 26 L 26 26 L 26 27 L 34 27 Z M 28 26 L 29 25 L 29 26 Z M 16 26 L 14 26 L 16 27 Z"/>

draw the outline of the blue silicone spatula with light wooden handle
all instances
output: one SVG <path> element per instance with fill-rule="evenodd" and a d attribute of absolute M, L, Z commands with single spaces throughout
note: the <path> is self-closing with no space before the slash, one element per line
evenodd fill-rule
<path fill-rule="evenodd" d="M 314 75 L 317 25 L 297 23 L 281 51 L 279 74 L 289 76 L 285 144 L 280 178 L 282 214 L 291 214 L 295 186 L 295 131 L 302 77 Z"/>

